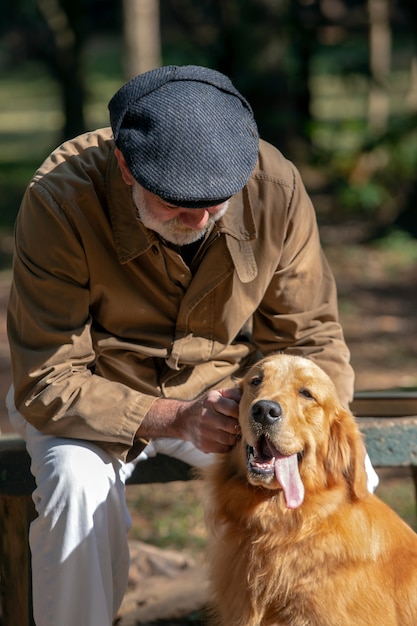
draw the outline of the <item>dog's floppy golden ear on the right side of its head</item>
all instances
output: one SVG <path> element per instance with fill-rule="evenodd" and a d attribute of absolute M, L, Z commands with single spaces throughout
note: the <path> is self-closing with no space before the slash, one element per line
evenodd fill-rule
<path fill-rule="evenodd" d="M 337 407 L 330 426 L 326 469 L 336 482 L 344 480 L 355 498 L 368 495 L 365 455 L 355 418 L 346 409 Z"/>

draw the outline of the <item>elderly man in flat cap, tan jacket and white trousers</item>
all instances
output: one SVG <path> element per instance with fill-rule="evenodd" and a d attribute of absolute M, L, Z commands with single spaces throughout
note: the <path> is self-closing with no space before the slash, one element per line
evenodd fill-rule
<path fill-rule="evenodd" d="M 37 626 L 111 625 L 126 475 L 157 450 L 228 451 L 250 363 L 305 355 L 345 404 L 353 389 L 313 207 L 230 80 L 163 67 L 109 110 L 45 161 L 16 222 L 9 411 L 37 484 Z"/>

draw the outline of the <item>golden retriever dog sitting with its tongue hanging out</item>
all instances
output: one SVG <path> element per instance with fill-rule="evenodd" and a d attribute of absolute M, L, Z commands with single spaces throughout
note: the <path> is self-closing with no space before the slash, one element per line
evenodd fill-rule
<path fill-rule="evenodd" d="M 213 623 L 416 626 L 417 534 L 368 492 L 329 377 L 280 354 L 241 388 L 241 437 L 205 475 Z"/>

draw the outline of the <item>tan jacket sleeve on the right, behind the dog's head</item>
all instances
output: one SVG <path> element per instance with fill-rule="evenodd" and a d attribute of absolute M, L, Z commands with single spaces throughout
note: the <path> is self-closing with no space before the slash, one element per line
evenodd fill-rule
<path fill-rule="evenodd" d="M 316 361 L 332 378 L 340 400 L 347 406 L 353 395 L 349 350 L 338 319 L 335 280 L 323 253 L 315 211 L 298 171 L 291 193 L 285 195 L 285 218 L 261 237 L 274 248 L 281 242 L 275 272 L 253 320 L 253 335 L 263 354 L 291 352 Z M 278 194 L 279 195 L 279 194 Z M 279 198 L 282 202 L 282 196 Z M 273 203 L 273 201 L 272 201 Z"/>

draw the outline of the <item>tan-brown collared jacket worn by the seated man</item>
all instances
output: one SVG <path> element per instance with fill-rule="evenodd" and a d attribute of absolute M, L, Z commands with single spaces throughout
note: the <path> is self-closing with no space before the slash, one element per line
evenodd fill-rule
<path fill-rule="evenodd" d="M 310 355 L 352 395 L 313 207 L 265 142 L 191 268 L 138 222 L 109 129 L 62 145 L 17 218 L 8 328 L 25 418 L 122 457 L 155 397 L 230 384 L 255 350 Z"/>

